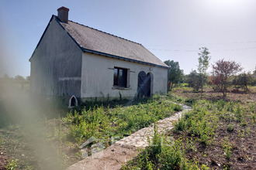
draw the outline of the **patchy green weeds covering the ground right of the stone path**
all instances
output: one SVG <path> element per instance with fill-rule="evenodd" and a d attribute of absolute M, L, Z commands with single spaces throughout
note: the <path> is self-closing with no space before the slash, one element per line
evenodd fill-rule
<path fill-rule="evenodd" d="M 170 96 L 177 100 L 178 97 Z M 184 102 L 185 100 L 182 99 Z M 202 157 L 207 158 L 204 153 L 206 148 L 213 148 L 210 151 L 216 151 L 220 148 L 220 157 L 230 162 L 233 158 L 233 142 L 231 139 L 224 138 L 215 141 L 215 138 L 221 131 L 227 131 L 224 134 L 230 134 L 234 139 L 235 133 L 237 138 L 246 138 L 251 135 L 250 124 L 255 126 L 256 107 L 253 103 L 241 104 L 240 102 L 225 100 L 195 100 L 192 102 L 192 110 L 182 115 L 175 122 L 174 131 L 171 134 L 177 134 L 178 138 L 173 140 L 169 136 L 154 133 L 153 141 L 150 146 L 140 151 L 137 158 L 123 165 L 123 169 L 210 169 L 207 165 L 211 163 L 214 167 L 216 163 L 202 162 L 198 156 L 198 149 L 202 151 Z M 223 127 L 223 128 L 221 128 Z M 244 129 L 239 130 L 237 129 Z M 155 129 L 156 131 L 156 129 Z M 232 135 L 234 134 L 234 135 Z M 238 149 L 239 146 L 235 148 Z M 207 152 L 208 153 L 208 152 Z M 195 154 L 195 158 L 192 155 Z M 213 154 L 215 155 L 215 154 Z M 201 159 L 201 162 L 198 160 Z M 240 158 L 241 160 L 242 158 Z M 208 159 L 207 159 L 208 160 Z M 236 161 L 236 160 L 235 160 Z M 229 163 L 217 165 L 217 167 L 229 168 Z"/>

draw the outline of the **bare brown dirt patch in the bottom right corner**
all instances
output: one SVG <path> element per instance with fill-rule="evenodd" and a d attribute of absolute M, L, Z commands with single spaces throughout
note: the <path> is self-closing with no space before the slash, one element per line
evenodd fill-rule
<path fill-rule="evenodd" d="M 245 132 L 244 137 L 240 137 L 239 131 L 246 131 L 250 128 L 250 134 Z M 255 127 L 247 126 L 247 128 L 239 128 L 236 126 L 234 131 L 227 131 L 227 124 L 220 124 L 216 129 L 216 135 L 212 145 L 202 145 L 200 142 L 195 142 L 195 149 L 188 151 L 186 157 L 194 162 L 199 162 L 199 165 L 208 165 L 211 169 L 255 169 L 256 167 L 256 133 Z M 175 139 L 182 137 L 195 141 L 195 138 L 188 133 L 173 133 Z M 232 146 L 232 154 L 230 160 L 227 160 L 223 152 L 223 140 L 228 138 Z"/>

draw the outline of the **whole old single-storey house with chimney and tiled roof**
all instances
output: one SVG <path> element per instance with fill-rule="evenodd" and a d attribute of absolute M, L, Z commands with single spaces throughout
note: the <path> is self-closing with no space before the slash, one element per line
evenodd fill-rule
<path fill-rule="evenodd" d="M 52 15 L 31 58 L 30 90 L 47 96 L 150 97 L 168 89 L 168 66 L 137 42 Z"/>

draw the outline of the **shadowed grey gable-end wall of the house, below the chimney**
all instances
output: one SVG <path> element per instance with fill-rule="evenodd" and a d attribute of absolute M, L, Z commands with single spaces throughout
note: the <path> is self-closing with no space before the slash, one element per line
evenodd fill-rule
<path fill-rule="evenodd" d="M 31 92 L 80 97 L 81 56 L 81 49 L 52 19 L 30 59 Z"/>

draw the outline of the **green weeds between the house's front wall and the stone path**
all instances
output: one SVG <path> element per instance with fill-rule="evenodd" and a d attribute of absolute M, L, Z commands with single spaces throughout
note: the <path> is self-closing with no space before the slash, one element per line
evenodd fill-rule
<path fill-rule="evenodd" d="M 182 110 L 178 104 L 153 99 L 129 107 L 85 107 L 81 114 L 70 112 L 63 120 L 68 127 L 67 138 L 71 141 L 80 143 L 92 136 L 109 141 L 112 136 L 123 138 L 178 110 Z"/>

